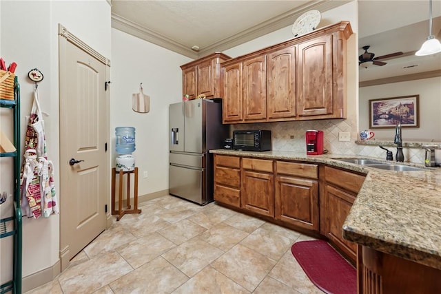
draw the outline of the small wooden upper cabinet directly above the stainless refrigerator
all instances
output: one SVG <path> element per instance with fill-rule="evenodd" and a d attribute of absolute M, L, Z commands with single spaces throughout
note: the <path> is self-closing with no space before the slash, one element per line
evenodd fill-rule
<path fill-rule="evenodd" d="M 207 98 L 220 97 L 219 63 L 230 59 L 229 56 L 215 52 L 196 61 L 181 65 L 183 80 L 182 94 L 190 99 L 204 94 Z"/>

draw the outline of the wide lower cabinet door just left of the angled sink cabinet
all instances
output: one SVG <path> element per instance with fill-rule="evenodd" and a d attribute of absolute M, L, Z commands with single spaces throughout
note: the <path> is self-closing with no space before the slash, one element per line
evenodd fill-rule
<path fill-rule="evenodd" d="M 318 231 L 318 182 L 290 176 L 276 177 L 275 217 Z"/>

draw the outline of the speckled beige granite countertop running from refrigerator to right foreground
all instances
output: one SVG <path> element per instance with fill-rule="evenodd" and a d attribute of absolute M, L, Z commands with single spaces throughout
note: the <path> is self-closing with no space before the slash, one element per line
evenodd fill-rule
<path fill-rule="evenodd" d="M 333 159 L 366 156 L 307 156 L 301 152 L 225 149 L 210 152 L 317 162 L 367 174 L 343 225 L 343 237 L 384 253 L 441 269 L 441 167 L 420 165 L 418 167 L 424 170 L 387 171 Z M 386 162 L 381 158 L 370 159 Z"/>

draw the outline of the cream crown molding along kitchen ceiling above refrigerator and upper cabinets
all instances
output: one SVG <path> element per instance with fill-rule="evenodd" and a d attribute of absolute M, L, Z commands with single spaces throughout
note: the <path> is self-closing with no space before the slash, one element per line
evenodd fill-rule
<path fill-rule="evenodd" d="M 247 41 L 252 41 L 253 39 L 256 39 L 265 34 L 269 34 L 270 32 L 285 28 L 294 22 L 293 19 L 297 19 L 298 17 L 300 17 L 301 14 L 308 10 L 316 9 L 320 12 L 325 12 L 338 6 L 342 6 L 343 4 L 349 3 L 351 1 L 353 0 L 308 1 L 304 6 L 301 6 L 300 8 L 289 10 L 284 14 L 280 14 L 277 17 L 256 25 L 249 30 L 244 30 L 243 32 L 239 32 L 238 34 L 235 34 L 234 36 L 231 36 L 227 39 L 223 39 L 216 43 L 213 43 L 212 45 L 201 49 L 201 51 L 199 52 L 194 52 L 193 50 L 191 50 L 191 48 L 187 48 L 187 46 L 178 43 L 168 38 L 167 36 L 164 36 L 163 34 L 159 34 L 157 32 L 149 30 L 148 28 L 145 28 L 114 13 L 112 13 L 112 28 L 115 28 L 116 30 L 121 30 L 122 32 L 131 34 L 132 36 L 136 36 L 147 42 L 154 43 L 155 45 L 161 46 L 178 54 L 182 54 L 191 59 L 199 59 L 208 54 L 212 54 L 213 52 L 222 52 L 224 50 L 233 48 L 234 46 L 243 44 Z"/>

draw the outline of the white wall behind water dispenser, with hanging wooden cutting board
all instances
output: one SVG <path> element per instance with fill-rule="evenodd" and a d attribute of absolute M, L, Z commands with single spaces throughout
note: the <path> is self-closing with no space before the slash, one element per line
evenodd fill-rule
<path fill-rule="evenodd" d="M 110 138 L 112 167 L 115 127 L 135 127 L 139 196 L 168 189 L 168 105 L 182 101 L 182 71 L 192 59 L 112 29 Z M 150 112 L 132 111 L 132 94 L 150 96 Z M 143 171 L 148 178 L 143 178 Z"/>

